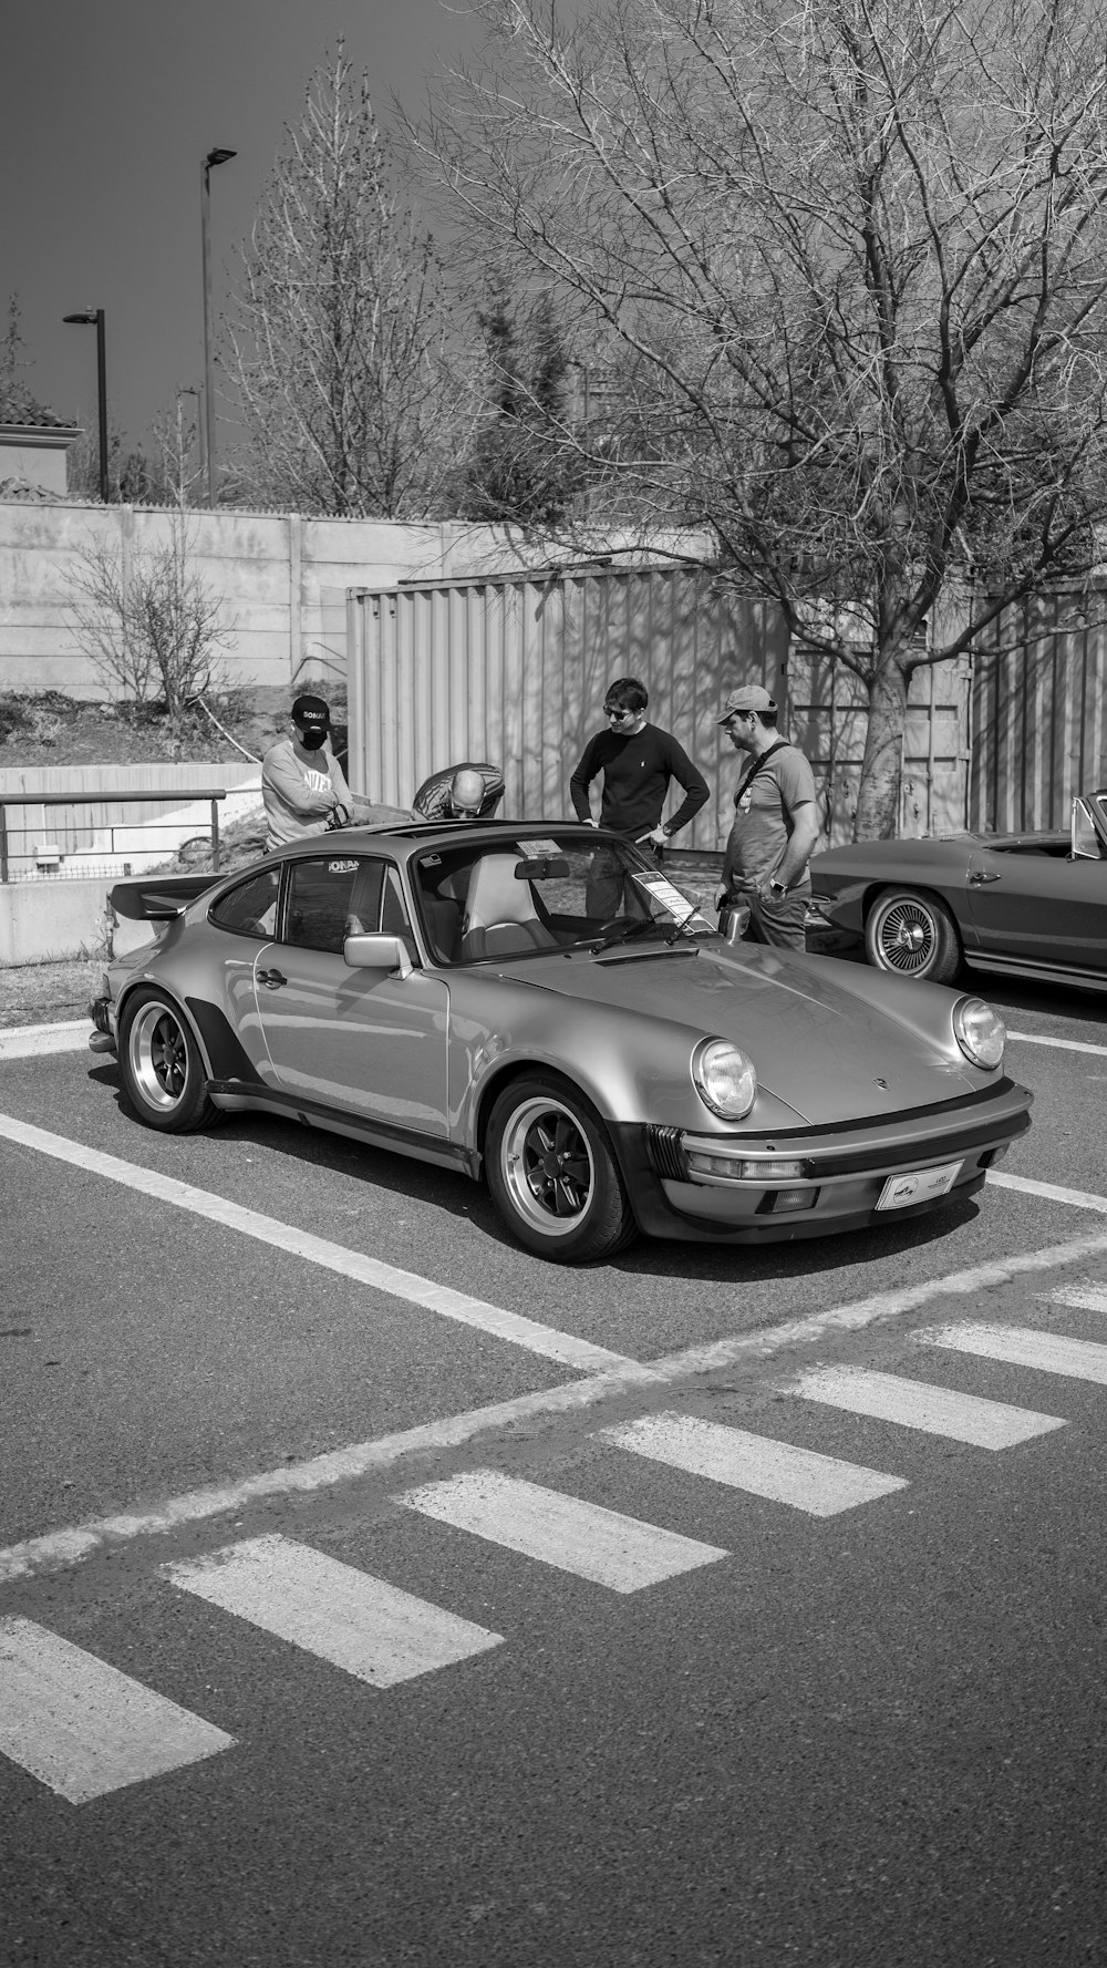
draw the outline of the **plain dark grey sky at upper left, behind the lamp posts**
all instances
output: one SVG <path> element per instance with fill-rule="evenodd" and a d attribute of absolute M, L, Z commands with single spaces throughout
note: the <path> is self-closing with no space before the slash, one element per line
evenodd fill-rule
<path fill-rule="evenodd" d="M 61 321 L 79 309 L 106 311 L 130 445 L 203 380 L 201 159 L 238 152 L 210 175 L 218 321 L 283 128 L 340 35 L 381 122 L 391 91 L 417 110 L 437 57 L 476 45 L 464 0 L 4 0 L 0 305 L 6 323 L 18 293 L 47 409 L 96 429 L 96 337 Z"/>

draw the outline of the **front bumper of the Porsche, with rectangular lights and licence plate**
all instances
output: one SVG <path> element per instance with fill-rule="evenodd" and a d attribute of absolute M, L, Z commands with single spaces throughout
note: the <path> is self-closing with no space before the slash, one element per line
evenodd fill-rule
<path fill-rule="evenodd" d="M 861 1230 L 881 1218 L 924 1216 L 973 1195 L 989 1167 L 1030 1126 L 1030 1102 L 1024 1086 L 1001 1078 L 981 1094 L 912 1114 L 788 1136 L 708 1136 L 680 1128 L 612 1132 L 641 1230 L 769 1244 Z M 759 1163 L 757 1179 L 741 1173 L 751 1161 Z M 775 1161 L 781 1179 L 765 1179 L 765 1165 Z M 889 1208 L 891 1177 L 926 1177 L 938 1169 L 948 1175 L 942 1193 L 930 1195 L 920 1181 L 920 1200 Z"/>

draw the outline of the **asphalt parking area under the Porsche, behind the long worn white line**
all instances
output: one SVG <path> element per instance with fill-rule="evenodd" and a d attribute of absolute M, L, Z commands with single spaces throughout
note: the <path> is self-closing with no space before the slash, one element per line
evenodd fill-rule
<path fill-rule="evenodd" d="M 1038 988 L 991 998 L 1034 1126 L 979 1199 L 824 1244 L 643 1240 L 586 1269 L 517 1250 L 462 1177 L 265 1116 L 163 1138 L 130 1118 L 114 1059 L 0 1051 L 0 1114 L 53 1138 L 28 1145 L 0 1120 L 16 1307 L 0 1421 L 18 1460 L 0 1541 L 1093 1232 L 1095 1202 L 1064 1193 L 1107 1191 L 1107 1008 Z M 173 1185 L 193 1195 L 167 1202 Z M 299 1254 L 297 1238 L 320 1246 Z M 100 1389 L 114 1448 L 102 1413 L 92 1427 Z M 43 1399 L 65 1450 L 39 1462 Z"/>

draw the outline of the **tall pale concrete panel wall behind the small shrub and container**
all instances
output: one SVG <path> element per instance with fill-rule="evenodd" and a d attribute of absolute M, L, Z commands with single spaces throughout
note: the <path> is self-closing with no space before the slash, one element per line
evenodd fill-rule
<path fill-rule="evenodd" d="M 167 545 L 155 508 L 0 502 L 0 691 L 110 691 L 73 628 L 81 549 Z M 228 681 L 287 691 L 346 675 L 346 590 L 545 565 L 551 553 L 509 529 L 297 514 L 189 512 L 191 561 L 222 600 Z M 610 543 L 606 543 L 610 545 Z M 615 543 L 617 545 L 617 543 Z M 564 553 L 560 555 L 564 559 Z"/>

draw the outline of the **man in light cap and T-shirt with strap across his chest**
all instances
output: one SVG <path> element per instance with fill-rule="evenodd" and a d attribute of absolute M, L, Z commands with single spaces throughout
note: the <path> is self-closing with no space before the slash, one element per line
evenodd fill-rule
<path fill-rule="evenodd" d="M 733 827 L 716 905 L 749 905 L 747 937 L 802 951 L 808 860 L 818 842 L 818 795 L 802 752 L 777 730 L 777 705 L 759 683 L 731 691 L 720 718 L 747 769 L 733 795 Z"/>

